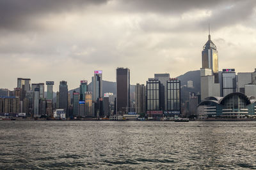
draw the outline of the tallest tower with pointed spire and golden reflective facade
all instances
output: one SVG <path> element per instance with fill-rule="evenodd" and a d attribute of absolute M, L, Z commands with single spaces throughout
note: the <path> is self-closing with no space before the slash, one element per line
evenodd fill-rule
<path fill-rule="evenodd" d="M 214 75 L 214 82 L 218 83 L 218 51 L 216 45 L 211 41 L 210 27 L 208 41 L 202 50 L 202 69 L 211 69 Z"/>

